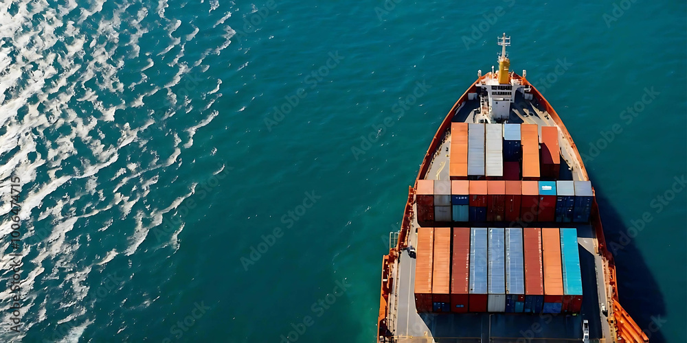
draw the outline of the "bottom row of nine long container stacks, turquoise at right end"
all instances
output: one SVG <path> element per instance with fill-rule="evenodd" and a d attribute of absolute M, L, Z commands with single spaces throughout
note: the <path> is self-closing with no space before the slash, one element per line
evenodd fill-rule
<path fill-rule="evenodd" d="M 418 228 L 418 312 L 578 314 L 575 228 Z"/>

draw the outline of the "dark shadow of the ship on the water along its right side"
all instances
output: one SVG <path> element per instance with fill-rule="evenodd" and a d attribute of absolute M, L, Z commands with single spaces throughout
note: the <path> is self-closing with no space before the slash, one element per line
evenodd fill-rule
<path fill-rule="evenodd" d="M 589 178 L 594 180 L 592 173 L 589 174 Z M 646 265 L 642 252 L 635 245 L 636 238 L 627 236 L 627 226 L 620 213 L 605 197 L 602 187 L 595 184 L 594 189 L 606 246 L 616 263 L 620 305 L 644 330 L 649 342 L 666 342 L 660 329 L 660 324 L 666 318 L 666 303 L 660 287 Z M 640 232 L 638 237 L 641 235 Z"/>

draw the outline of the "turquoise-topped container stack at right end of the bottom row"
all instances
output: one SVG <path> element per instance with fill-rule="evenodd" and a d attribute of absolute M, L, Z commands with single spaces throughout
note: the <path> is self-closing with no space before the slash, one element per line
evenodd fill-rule
<path fill-rule="evenodd" d="M 563 259 L 563 313 L 578 314 L 582 309 L 582 272 L 577 229 L 561 228 Z"/>

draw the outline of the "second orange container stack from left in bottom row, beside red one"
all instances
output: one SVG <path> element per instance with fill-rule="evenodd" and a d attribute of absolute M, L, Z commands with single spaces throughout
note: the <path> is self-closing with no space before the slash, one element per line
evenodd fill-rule
<path fill-rule="evenodd" d="M 434 261 L 431 284 L 433 312 L 451 311 L 451 228 L 434 229 Z"/>

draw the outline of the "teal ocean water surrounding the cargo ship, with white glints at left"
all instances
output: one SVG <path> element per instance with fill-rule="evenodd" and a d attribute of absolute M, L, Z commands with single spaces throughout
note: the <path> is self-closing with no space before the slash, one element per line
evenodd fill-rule
<path fill-rule="evenodd" d="M 506 32 L 585 154 L 622 305 L 684 342 L 686 11 L 3 1 L 1 340 L 374 342 L 407 187 Z"/>

